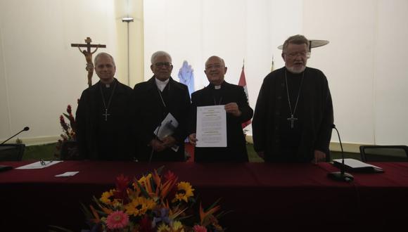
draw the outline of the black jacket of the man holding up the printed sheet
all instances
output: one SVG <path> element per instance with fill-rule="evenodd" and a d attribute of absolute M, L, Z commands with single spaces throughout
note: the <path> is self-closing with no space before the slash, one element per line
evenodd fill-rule
<path fill-rule="evenodd" d="M 248 98 L 242 86 L 224 81 L 219 91 L 221 91 L 220 97 L 215 99 L 214 85 L 209 84 L 204 89 L 191 94 L 190 132 L 196 132 L 198 106 L 237 103 L 242 114 L 235 117 L 227 113 L 227 148 L 195 148 L 194 160 L 196 162 L 248 162 L 246 141 L 241 124 L 252 118 L 253 109 L 248 105 Z"/>

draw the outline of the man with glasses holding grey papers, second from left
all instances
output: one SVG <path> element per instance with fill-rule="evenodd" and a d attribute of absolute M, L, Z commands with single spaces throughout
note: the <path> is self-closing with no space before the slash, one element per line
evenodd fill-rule
<path fill-rule="evenodd" d="M 186 124 L 191 105 L 189 89 L 170 77 L 173 65 L 169 53 L 153 53 L 151 70 L 154 74 L 151 79 L 134 86 L 139 138 L 137 159 L 185 161 L 184 139 L 187 136 Z M 167 126 L 162 122 L 169 113 L 177 120 L 178 127 L 172 128 L 168 136 L 159 138 L 154 131 Z"/>

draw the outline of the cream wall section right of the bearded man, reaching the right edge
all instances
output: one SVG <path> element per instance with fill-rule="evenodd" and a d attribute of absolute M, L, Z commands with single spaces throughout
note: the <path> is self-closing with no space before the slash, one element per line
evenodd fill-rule
<path fill-rule="evenodd" d="M 305 34 L 330 41 L 314 49 L 309 64 L 329 79 L 345 142 L 408 144 L 407 12 L 404 0 L 312 0 L 304 6 Z"/>

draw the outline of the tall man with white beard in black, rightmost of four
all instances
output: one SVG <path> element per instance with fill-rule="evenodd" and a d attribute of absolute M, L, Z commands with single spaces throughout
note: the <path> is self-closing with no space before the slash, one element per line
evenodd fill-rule
<path fill-rule="evenodd" d="M 306 67 L 309 41 L 283 44 L 285 67 L 264 78 L 253 117 L 254 148 L 266 162 L 319 162 L 329 158 L 333 104 L 326 76 Z"/>

